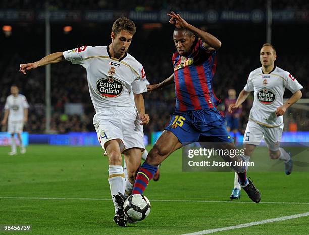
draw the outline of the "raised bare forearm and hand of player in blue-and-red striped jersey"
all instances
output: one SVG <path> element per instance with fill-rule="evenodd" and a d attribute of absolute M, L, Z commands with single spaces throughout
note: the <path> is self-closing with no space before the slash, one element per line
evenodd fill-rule
<path fill-rule="evenodd" d="M 211 35 L 208 32 L 200 30 L 193 25 L 186 22 L 179 14 L 175 12 L 171 12 L 171 14 L 167 14 L 171 17 L 170 23 L 175 25 L 177 28 L 187 28 L 188 30 L 195 33 L 198 37 L 200 37 L 204 42 L 204 47 L 210 51 L 218 50 L 221 47 L 221 41 L 219 41 L 215 36 Z"/>

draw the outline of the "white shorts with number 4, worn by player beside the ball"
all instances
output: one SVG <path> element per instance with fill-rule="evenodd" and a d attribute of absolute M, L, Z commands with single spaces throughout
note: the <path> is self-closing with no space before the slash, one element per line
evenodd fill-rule
<path fill-rule="evenodd" d="M 145 149 L 144 130 L 134 107 L 109 108 L 96 113 L 93 117 L 98 140 L 105 151 L 104 144 L 120 139 L 120 150 L 130 148 Z"/>

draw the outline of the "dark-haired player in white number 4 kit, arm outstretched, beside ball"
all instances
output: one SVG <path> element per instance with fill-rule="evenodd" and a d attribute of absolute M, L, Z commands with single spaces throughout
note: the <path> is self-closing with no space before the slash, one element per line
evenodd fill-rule
<path fill-rule="evenodd" d="M 50 54 L 37 62 L 21 64 L 20 67 L 20 71 L 26 74 L 30 69 L 68 60 L 86 68 L 90 97 L 96 111 L 93 124 L 109 158 L 114 221 L 119 226 L 126 226 L 127 218 L 115 196 L 118 192 L 130 194 L 132 191 L 135 172 L 141 164 L 141 153 L 145 148 L 142 125 L 149 122 L 142 96 L 147 91 L 145 71 L 127 53 L 135 32 L 133 21 L 126 17 L 119 18 L 113 24 L 109 46 L 82 46 Z M 127 180 L 121 153 L 127 164 Z"/>

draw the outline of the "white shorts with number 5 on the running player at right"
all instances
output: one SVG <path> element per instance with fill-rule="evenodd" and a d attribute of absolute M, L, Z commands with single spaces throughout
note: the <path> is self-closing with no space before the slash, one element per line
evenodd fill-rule
<path fill-rule="evenodd" d="M 243 136 L 243 143 L 260 145 L 262 138 L 269 150 L 276 151 L 280 147 L 283 124 L 280 127 L 266 127 L 249 120 Z"/>

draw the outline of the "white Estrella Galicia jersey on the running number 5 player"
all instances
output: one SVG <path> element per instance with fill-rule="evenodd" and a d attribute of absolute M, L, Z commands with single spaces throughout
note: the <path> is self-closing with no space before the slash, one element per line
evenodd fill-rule
<path fill-rule="evenodd" d="M 245 91 L 254 91 L 249 119 L 268 127 L 282 125 L 283 116 L 277 117 L 275 112 L 283 105 L 285 88 L 295 93 L 303 87 L 293 75 L 277 66 L 269 74 L 263 73 L 262 67 L 253 70 L 243 88 Z"/>

